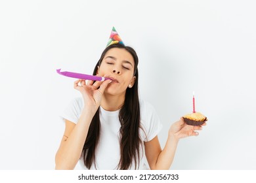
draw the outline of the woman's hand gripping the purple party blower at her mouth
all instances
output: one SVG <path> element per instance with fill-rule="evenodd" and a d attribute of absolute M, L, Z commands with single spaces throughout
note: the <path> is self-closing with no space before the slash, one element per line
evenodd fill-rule
<path fill-rule="evenodd" d="M 85 107 L 90 108 L 91 112 L 95 114 L 100 106 L 102 94 L 110 82 L 112 80 L 96 81 L 95 83 L 93 83 L 93 80 L 89 80 L 87 83 L 85 80 L 76 80 L 74 82 L 74 88 L 82 94 Z"/>

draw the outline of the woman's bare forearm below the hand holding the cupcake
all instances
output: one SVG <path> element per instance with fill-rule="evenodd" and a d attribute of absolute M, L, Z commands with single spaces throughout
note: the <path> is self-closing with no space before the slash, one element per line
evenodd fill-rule
<path fill-rule="evenodd" d="M 177 149 L 179 139 L 175 138 L 174 135 L 169 135 L 166 141 L 165 147 L 160 152 L 158 160 L 156 161 L 156 169 L 163 170 L 169 169 Z"/>

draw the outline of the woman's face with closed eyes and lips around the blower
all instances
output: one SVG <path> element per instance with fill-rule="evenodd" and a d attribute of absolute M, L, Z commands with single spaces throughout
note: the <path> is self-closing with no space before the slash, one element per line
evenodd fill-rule
<path fill-rule="evenodd" d="M 124 94 L 127 87 L 133 87 L 136 77 L 133 76 L 135 61 L 133 56 L 123 48 L 112 48 L 106 52 L 97 75 L 112 78 L 104 93 L 111 95 Z"/>

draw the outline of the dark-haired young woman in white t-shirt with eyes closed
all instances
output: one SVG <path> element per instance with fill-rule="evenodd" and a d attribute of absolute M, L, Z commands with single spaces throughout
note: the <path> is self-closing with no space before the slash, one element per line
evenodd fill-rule
<path fill-rule="evenodd" d="M 138 62 L 133 48 L 112 44 L 93 73 L 112 80 L 74 82 L 82 97 L 62 115 L 66 128 L 56 169 L 74 169 L 79 159 L 85 169 L 169 169 L 179 139 L 198 135 L 195 130 L 202 126 L 186 125 L 181 118 L 161 149 L 160 120 L 152 105 L 139 99 Z"/>

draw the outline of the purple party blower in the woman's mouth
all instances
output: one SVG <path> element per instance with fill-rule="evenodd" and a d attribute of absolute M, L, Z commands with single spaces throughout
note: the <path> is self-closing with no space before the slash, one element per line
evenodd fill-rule
<path fill-rule="evenodd" d="M 83 80 L 98 80 L 98 81 L 104 81 L 104 80 L 112 80 L 111 78 L 105 78 L 100 76 L 93 76 L 93 75 L 85 75 L 81 73 L 72 73 L 68 71 L 60 72 L 60 69 L 56 69 L 57 73 L 63 76 L 67 76 L 70 78 L 77 78 L 77 79 L 83 79 Z"/>

